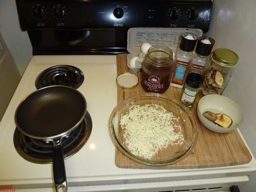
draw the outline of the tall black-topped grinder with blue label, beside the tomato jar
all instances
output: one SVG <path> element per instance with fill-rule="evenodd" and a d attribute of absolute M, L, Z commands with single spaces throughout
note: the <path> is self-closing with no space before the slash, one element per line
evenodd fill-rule
<path fill-rule="evenodd" d="M 174 75 L 170 86 L 183 88 L 183 84 L 189 69 L 189 62 L 193 54 L 198 36 L 194 33 L 183 33 L 180 46 L 177 50 Z"/>

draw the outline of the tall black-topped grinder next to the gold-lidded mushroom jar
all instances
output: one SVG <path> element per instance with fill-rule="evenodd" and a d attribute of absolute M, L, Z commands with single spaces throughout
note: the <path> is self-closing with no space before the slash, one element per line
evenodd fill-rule
<path fill-rule="evenodd" d="M 199 37 L 196 51 L 191 59 L 189 73 L 198 73 L 204 75 L 205 64 L 209 58 L 215 40 L 210 37 Z"/>

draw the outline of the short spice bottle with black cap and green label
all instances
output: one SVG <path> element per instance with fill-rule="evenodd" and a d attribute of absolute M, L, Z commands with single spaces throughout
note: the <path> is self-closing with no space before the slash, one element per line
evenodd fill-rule
<path fill-rule="evenodd" d="M 188 109 L 192 109 L 198 93 L 203 84 L 203 76 L 198 73 L 189 73 L 181 94 L 181 103 Z"/>

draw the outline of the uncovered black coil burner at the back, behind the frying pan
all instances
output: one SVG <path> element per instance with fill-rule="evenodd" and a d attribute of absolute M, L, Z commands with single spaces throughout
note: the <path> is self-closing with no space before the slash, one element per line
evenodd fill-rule
<path fill-rule="evenodd" d="M 83 73 L 74 66 L 60 65 L 42 71 L 35 80 L 36 89 L 47 86 L 68 86 L 77 89 L 83 82 Z"/>

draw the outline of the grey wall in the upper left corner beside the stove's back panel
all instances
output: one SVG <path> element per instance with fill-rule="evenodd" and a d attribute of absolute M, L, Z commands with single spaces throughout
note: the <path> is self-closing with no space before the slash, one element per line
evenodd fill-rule
<path fill-rule="evenodd" d="M 28 34 L 19 28 L 14 0 L 0 0 L 0 33 L 13 56 L 19 73 L 23 74 L 32 56 L 32 47 Z"/>

